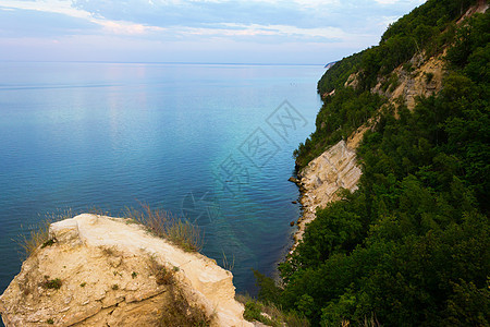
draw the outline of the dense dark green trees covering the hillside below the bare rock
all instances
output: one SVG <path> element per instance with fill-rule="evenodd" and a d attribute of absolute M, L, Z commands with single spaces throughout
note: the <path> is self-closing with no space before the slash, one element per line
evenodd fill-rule
<path fill-rule="evenodd" d="M 428 1 L 381 45 L 417 29 L 422 16 L 431 26 L 457 19 L 471 2 Z M 258 278 L 262 300 L 302 312 L 314 326 L 370 317 L 383 326 L 489 326 L 489 13 L 475 15 L 454 31 L 443 89 L 413 111 L 397 108 L 396 118 L 384 109 L 357 149 L 359 189 L 317 211 L 280 266 L 283 288 Z M 346 75 L 341 68 L 329 83 Z M 350 107 L 359 96 L 379 105 L 366 89 L 336 88 L 327 98 L 299 159 L 366 120 L 373 109 Z"/>

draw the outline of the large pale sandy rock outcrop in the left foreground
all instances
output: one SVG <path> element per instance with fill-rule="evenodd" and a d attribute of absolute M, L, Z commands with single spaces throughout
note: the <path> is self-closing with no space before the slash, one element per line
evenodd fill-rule
<path fill-rule="evenodd" d="M 253 326 L 230 271 L 132 220 L 79 215 L 51 225 L 50 240 L 0 296 L 7 326 L 164 326 L 196 314 L 211 326 Z"/>

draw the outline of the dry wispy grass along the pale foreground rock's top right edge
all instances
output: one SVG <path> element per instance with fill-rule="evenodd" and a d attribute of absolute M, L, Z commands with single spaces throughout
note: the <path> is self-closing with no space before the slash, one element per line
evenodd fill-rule
<path fill-rule="evenodd" d="M 197 226 L 166 210 L 154 210 L 145 204 L 142 207 L 143 210 L 126 208 L 125 218 L 142 223 L 154 235 L 169 240 L 186 252 L 199 252 L 203 249 L 203 237 Z"/>

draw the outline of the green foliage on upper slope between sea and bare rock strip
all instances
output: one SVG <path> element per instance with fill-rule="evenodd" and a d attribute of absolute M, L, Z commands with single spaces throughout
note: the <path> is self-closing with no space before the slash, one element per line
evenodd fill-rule
<path fill-rule="evenodd" d="M 318 82 L 318 92 L 323 96 L 324 102 L 319 117 L 328 116 L 329 121 L 317 119 L 315 133 L 294 153 L 297 166 L 304 167 L 326 147 L 339 142 L 371 117 L 375 112 L 372 106 L 379 105 L 380 99 L 373 99 L 372 95 L 364 93 L 369 92 L 379 81 L 387 81 L 384 89 L 396 83 L 390 81 L 393 69 L 407 63 L 417 52 L 425 53 L 426 57 L 442 52 L 454 40 L 455 20 L 475 2 L 476 0 L 429 0 L 390 25 L 378 46 L 335 63 Z M 346 82 L 353 74 L 357 82 L 356 96 L 370 97 L 366 102 L 352 104 L 352 95 L 346 95 Z M 332 90 L 335 90 L 335 95 L 327 96 Z M 334 110 L 339 102 L 344 101 L 351 101 L 354 106 L 350 107 L 358 110 L 350 113 L 356 116 L 356 119 L 347 118 L 344 110 Z"/>

